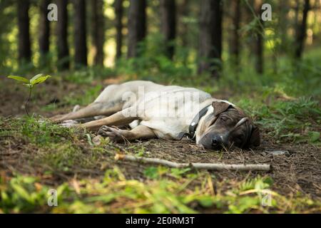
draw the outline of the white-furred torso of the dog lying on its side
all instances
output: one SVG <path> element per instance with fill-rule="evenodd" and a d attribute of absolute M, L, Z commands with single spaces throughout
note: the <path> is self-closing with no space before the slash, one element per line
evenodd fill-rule
<path fill-rule="evenodd" d="M 139 94 L 141 90 L 144 90 L 143 96 Z M 178 93 L 197 94 L 198 98 L 181 100 L 183 97 L 175 96 L 178 95 Z M 136 96 L 137 99 L 128 99 L 130 95 Z M 175 101 L 181 105 L 173 105 L 173 103 L 170 103 L 170 100 L 164 100 L 164 95 L 175 97 Z M 205 93 L 196 88 L 162 86 L 151 81 L 130 81 L 120 85 L 107 86 L 91 105 L 96 109 L 104 110 L 111 103 L 121 103 L 122 111 L 137 110 L 143 107 L 143 113 L 137 113 L 135 111 L 131 113 L 131 115 L 138 117 L 129 124 L 131 128 L 144 125 L 150 128 L 157 138 L 177 139 L 179 133 L 188 132 L 188 127 L 195 115 L 198 115 L 198 112 L 202 108 L 210 105 L 213 101 L 229 103 L 226 100 L 212 98 L 209 93 Z M 233 105 L 232 103 L 229 104 Z M 175 116 L 160 115 L 162 111 L 172 111 L 168 107 L 175 108 Z M 195 108 L 188 110 L 190 107 Z M 213 113 L 213 106 L 211 105 L 206 115 L 200 119 L 195 133 L 196 142 L 200 140 L 202 134 L 200 133 L 200 126 L 203 124 L 204 118 L 210 113 Z"/>

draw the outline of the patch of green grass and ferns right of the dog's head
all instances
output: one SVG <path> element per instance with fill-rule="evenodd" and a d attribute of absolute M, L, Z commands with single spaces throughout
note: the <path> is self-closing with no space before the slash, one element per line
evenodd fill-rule
<path fill-rule="evenodd" d="M 305 142 L 320 145 L 320 103 L 312 98 L 270 102 L 242 98 L 236 102 L 277 142 Z"/>

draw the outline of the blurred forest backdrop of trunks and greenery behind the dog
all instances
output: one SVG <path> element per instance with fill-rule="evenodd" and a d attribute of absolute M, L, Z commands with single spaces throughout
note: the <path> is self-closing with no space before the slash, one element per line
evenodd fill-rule
<path fill-rule="evenodd" d="M 58 21 L 46 19 L 50 3 L 58 6 Z M 261 19 L 266 3 L 272 21 Z M 309 83 L 317 79 L 301 71 L 320 76 L 320 5 L 320 0 L 0 0 L 1 75 L 100 68 L 94 70 L 98 78 Z"/>

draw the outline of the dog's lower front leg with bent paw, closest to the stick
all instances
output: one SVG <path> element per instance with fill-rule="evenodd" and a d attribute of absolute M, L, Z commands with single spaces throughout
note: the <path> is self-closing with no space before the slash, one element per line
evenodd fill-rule
<path fill-rule="evenodd" d="M 156 135 L 153 133 L 151 128 L 148 128 L 144 125 L 138 125 L 132 130 L 121 130 L 118 128 L 111 128 L 106 125 L 103 125 L 99 130 L 98 134 L 103 137 L 110 138 L 113 142 L 125 142 L 126 140 L 138 140 L 138 139 L 150 139 L 156 138 Z"/>

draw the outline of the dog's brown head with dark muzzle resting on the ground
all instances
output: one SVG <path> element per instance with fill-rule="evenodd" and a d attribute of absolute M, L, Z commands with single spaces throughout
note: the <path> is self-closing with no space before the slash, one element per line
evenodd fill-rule
<path fill-rule="evenodd" d="M 224 101 L 212 103 L 213 113 L 205 116 L 196 134 L 196 142 L 208 149 L 260 145 L 260 133 L 243 110 Z"/>

